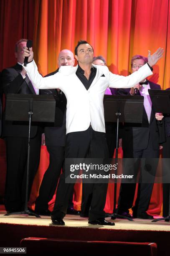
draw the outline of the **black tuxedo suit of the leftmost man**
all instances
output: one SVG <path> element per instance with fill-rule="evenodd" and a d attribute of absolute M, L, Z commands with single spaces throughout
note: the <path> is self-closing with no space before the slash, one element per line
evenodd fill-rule
<path fill-rule="evenodd" d="M 36 94 L 33 85 L 26 76 L 23 79 L 20 72 L 22 66 L 16 64 L 13 67 L 3 69 L 2 85 L 5 97 L 8 93 Z M 3 120 L 2 137 L 6 142 L 7 152 L 7 176 L 5 187 L 5 208 L 8 211 L 23 210 L 25 202 L 26 165 L 28 150 L 28 122 Z M 36 174 L 41 149 L 41 128 L 36 124 L 30 131 L 30 177 L 28 196 Z"/>

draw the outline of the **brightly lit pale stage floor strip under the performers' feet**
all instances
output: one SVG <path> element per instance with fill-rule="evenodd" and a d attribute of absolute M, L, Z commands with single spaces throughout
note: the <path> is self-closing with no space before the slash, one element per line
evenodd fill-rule
<path fill-rule="evenodd" d="M 8 224 L 20 224 L 20 225 L 38 225 L 38 226 L 51 226 L 51 217 L 42 216 L 41 218 L 36 218 L 34 216 L 28 215 L 10 215 L 4 216 L 6 212 L 0 211 L 0 223 Z M 101 229 L 113 229 L 113 230 L 152 230 L 152 231 L 170 231 L 170 222 L 165 222 L 163 220 L 156 223 L 151 222 L 151 220 L 134 219 L 134 221 L 116 219 L 111 220 L 110 217 L 106 220 L 113 221 L 115 226 L 102 226 L 102 225 L 91 225 L 88 224 L 88 218 L 82 218 L 76 215 L 66 215 L 64 218 L 65 227 L 79 227 L 79 228 L 101 228 Z M 53 225 L 56 227 L 57 225 Z"/>

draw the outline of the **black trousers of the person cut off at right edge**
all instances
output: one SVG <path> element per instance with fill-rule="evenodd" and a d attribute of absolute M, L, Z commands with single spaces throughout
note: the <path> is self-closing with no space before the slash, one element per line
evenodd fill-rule
<path fill-rule="evenodd" d="M 163 158 L 169 158 L 170 162 L 170 137 L 166 137 L 166 142 L 163 143 Z M 163 165 L 163 168 L 165 166 Z M 169 165 L 170 168 L 170 165 Z M 166 172 L 169 172 L 168 170 L 165 170 Z M 169 183 L 163 183 L 163 216 L 166 217 L 169 215 L 169 204 L 170 204 L 170 184 Z"/>

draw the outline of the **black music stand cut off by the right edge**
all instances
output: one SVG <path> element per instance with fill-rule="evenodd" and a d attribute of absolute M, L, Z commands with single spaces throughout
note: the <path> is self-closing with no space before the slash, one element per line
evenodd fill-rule
<path fill-rule="evenodd" d="M 170 114 L 170 90 L 148 90 L 153 108 L 156 113 Z M 159 121 L 158 121 L 159 122 Z M 169 184 L 169 199 L 170 199 L 170 184 Z M 157 222 L 159 220 L 170 221 L 170 201 L 169 201 L 169 215 L 167 217 L 152 220 Z"/>

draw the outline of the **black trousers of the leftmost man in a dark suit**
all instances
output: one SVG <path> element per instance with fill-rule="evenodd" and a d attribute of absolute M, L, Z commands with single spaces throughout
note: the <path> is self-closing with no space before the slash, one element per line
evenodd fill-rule
<path fill-rule="evenodd" d="M 5 209 L 7 211 L 24 210 L 26 172 L 28 156 L 28 138 L 7 137 L 7 175 L 5 184 Z M 30 168 L 28 200 L 40 161 L 41 131 L 30 139 Z"/>

